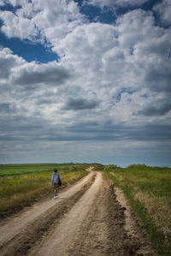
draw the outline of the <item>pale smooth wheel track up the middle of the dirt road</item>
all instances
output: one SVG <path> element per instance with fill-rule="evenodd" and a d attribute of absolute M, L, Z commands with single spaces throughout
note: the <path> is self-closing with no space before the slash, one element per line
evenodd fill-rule
<path fill-rule="evenodd" d="M 68 215 L 62 220 L 60 225 L 56 227 L 53 235 L 45 238 L 37 249 L 33 249 L 30 255 L 66 255 L 68 245 L 80 235 L 78 229 L 82 225 L 87 213 L 96 199 L 99 186 L 102 182 L 101 173 L 97 173 L 97 179 L 91 188 L 85 192 L 81 199 L 74 205 Z"/>

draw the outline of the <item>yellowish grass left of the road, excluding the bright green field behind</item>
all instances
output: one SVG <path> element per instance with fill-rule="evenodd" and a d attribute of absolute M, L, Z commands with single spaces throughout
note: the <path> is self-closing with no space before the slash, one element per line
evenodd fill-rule
<path fill-rule="evenodd" d="M 53 166 L 57 167 L 57 166 Z M 86 174 L 86 165 L 66 166 L 59 168 L 62 177 L 62 186 L 73 183 Z M 21 166 L 20 166 L 21 168 Z M 57 167 L 58 168 L 58 167 Z M 25 169 L 25 166 L 22 166 Z M 48 169 L 48 170 L 47 170 Z M 17 172 L 17 171 L 16 171 Z M 0 177 L 0 217 L 5 217 L 12 212 L 18 211 L 25 205 L 30 205 L 33 200 L 42 198 L 52 193 L 50 184 L 53 169 L 41 172 L 25 173 L 15 176 Z"/>

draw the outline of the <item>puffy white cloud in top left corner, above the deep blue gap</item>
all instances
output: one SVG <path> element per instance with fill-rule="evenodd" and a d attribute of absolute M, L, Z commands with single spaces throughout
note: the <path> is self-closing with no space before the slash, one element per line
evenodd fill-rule
<path fill-rule="evenodd" d="M 30 39 L 34 42 L 57 44 L 67 33 L 74 30 L 85 20 L 74 1 L 12 1 L 14 7 L 19 6 L 15 13 L 3 11 L 1 30 L 9 38 Z"/>

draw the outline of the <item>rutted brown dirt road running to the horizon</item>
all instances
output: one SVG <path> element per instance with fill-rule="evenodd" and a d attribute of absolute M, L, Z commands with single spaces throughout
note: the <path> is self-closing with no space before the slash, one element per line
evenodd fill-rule
<path fill-rule="evenodd" d="M 103 172 L 91 171 L 58 199 L 3 220 L 0 255 L 156 255 L 123 197 Z"/>

